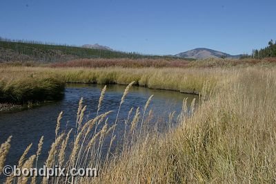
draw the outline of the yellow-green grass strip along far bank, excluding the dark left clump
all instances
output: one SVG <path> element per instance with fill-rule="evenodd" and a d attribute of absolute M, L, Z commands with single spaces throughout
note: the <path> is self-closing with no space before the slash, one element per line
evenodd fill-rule
<path fill-rule="evenodd" d="M 55 77 L 63 82 L 124 84 L 135 81 L 135 85 L 151 89 L 168 89 L 186 93 L 199 93 L 208 82 L 215 86 L 228 70 L 207 68 L 48 68 L 14 66 L 2 68 L 0 76 L 12 77 L 15 73 L 34 78 Z"/>

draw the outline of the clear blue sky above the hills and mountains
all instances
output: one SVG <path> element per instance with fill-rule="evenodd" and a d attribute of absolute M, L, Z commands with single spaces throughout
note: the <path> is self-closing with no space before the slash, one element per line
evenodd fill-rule
<path fill-rule="evenodd" d="M 276 39 L 275 0 L 1 0 L 0 36 L 176 54 L 251 53 Z"/>

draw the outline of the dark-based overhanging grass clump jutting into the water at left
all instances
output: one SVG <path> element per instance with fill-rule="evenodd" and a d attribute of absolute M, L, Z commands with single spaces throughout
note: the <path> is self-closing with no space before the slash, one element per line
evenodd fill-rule
<path fill-rule="evenodd" d="M 65 83 L 56 77 L 1 69 L 0 103 L 2 104 L 28 104 L 59 100 L 63 97 L 64 88 Z"/>

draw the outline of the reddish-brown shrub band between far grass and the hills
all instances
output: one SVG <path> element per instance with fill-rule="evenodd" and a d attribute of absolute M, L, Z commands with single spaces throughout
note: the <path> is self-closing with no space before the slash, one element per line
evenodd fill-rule
<path fill-rule="evenodd" d="M 50 67 L 123 67 L 123 68 L 213 68 L 230 66 L 254 66 L 276 64 L 275 58 L 264 59 L 75 59 L 68 62 L 57 62 Z"/>

